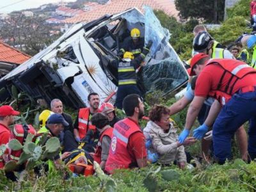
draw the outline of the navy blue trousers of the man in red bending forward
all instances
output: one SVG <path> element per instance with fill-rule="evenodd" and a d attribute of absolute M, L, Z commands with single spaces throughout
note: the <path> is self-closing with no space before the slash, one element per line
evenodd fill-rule
<path fill-rule="evenodd" d="M 250 121 L 248 152 L 253 159 L 256 157 L 256 91 L 234 94 L 214 122 L 214 155 L 220 164 L 231 157 L 231 138 L 247 120 Z"/>

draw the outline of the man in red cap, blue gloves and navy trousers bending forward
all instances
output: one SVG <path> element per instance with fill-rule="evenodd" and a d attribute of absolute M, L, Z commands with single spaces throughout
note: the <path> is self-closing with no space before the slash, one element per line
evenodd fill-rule
<path fill-rule="evenodd" d="M 202 138 L 213 125 L 214 156 L 218 163 L 231 157 L 231 138 L 241 125 L 250 120 L 248 152 L 256 157 L 256 70 L 238 60 L 210 60 L 207 54 L 196 54 L 191 60 L 191 76 L 198 75 L 195 97 L 191 102 L 181 143 L 188 137 L 205 98 L 214 97 L 206 126 L 195 129 L 193 136 Z M 221 106 L 224 106 L 221 108 Z M 219 113 L 220 111 L 220 113 Z"/>

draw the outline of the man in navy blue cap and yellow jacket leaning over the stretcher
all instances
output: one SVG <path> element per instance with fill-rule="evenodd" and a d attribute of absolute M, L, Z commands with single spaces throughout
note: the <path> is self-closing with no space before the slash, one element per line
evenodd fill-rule
<path fill-rule="evenodd" d="M 36 145 L 38 145 L 41 142 L 42 136 L 44 134 L 47 134 L 47 140 L 49 140 L 49 138 L 52 137 L 58 137 L 65 126 L 68 126 L 68 122 L 66 122 L 66 120 L 63 118 L 61 114 L 52 114 L 51 116 L 49 116 L 46 125 L 36 133 Z M 40 143 L 40 145 L 45 145 L 47 140 L 45 140 L 44 143 Z M 54 164 L 58 166 L 60 164 L 60 161 L 68 157 L 69 154 L 70 152 L 65 152 L 61 154 L 61 156 L 57 155 L 56 157 L 54 157 L 54 162 L 51 159 L 47 159 L 48 168 L 45 168 L 45 170 L 52 170 L 54 168 Z"/>

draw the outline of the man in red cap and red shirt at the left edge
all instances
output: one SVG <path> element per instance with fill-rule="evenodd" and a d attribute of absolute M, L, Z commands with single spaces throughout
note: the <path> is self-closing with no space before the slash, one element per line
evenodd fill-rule
<path fill-rule="evenodd" d="M 4 105 L 0 107 L 0 145 L 6 145 L 11 136 L 10 125 L 14 123 L 14 116 L 19 115 L 19 111 L 15 111 L 12 106 Z M 9 161 L 8 150 L 0 157 L 0 169 L 4 168 L 4 163 Z"/>

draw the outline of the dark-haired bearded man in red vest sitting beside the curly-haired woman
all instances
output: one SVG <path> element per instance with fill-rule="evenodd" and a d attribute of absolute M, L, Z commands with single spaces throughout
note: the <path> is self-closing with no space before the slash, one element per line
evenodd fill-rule
<path fill-rule="evenodd" d="M 123 101 L 123 106 L 127 118 L 114 126 L 105 166 L 105 171 L 111 174 L 116 169 L 147 166 L 145 136 L 138 124 L 144 115 L 140 95 L 128 95 Z"/>

